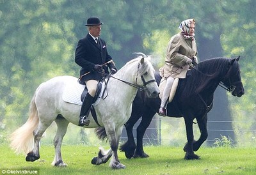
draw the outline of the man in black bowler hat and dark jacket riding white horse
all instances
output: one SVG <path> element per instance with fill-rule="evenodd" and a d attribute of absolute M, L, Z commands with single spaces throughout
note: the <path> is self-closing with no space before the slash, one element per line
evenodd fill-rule
<path fill-rule="evenodd" d="M 97 84 L 104 77 L 102 72 L 109 73 L 108 68 L 111 69 L 111 74 L 117 71 L 112 57 L 108 54 L 106 42 L 99 38 L 102 24 L 99 18 L 90 17 L 85 25 L 88 27 L 89 33 L 79 40 L 76 47 L 75 61 L 77 65 L 81 66 L 79 82 L 86 84 L 88 89 L 88 93 L 83 99 L 79 126 L 88 126 L 90 123 L 87 116 L 92 107 Z"/>

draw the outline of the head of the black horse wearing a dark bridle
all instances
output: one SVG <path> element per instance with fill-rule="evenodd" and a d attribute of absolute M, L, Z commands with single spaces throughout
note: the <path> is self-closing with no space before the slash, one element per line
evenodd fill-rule
<path fill-rule="evenodd" d="M 232 95 L 241 97 L 244 95 L 244 87 L 241 81 L 241 71 L 239 68 L 239 57 L 230 59 L 228 62 L 228 71 L 225 77 L 221 80 L 224 86 L 227 87 L 228 91 L 232 92 Z"/>

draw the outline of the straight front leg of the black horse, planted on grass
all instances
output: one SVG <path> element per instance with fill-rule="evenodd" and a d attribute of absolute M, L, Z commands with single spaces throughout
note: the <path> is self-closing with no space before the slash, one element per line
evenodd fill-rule
<path fill-rule="evenodd" d="M 194 133 L 193 133 L 193 118 L 188 118 L 184 116 L 185 119 L 185 125 L 186 125 L 186 133 L 187 133 L 187 139 L 188 142 L 184 146 L 184 151 L 186 151 L 185 159 L 186 160 L 194 160 L 199 159 L 199 156 L 196 155 L 193 151 L 193 143 L 194 141 Z"/>

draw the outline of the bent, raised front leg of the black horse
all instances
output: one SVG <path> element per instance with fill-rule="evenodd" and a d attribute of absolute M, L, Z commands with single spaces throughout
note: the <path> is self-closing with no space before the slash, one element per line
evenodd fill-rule
<path fill-rule="evenodd" d="M 203 116 L 202 118 L 197 119 L 198 127 L 200 129 L 200 138 L 198 141 L 193 143 L 193 150 L 197 151 L 200 146 L 206 141 L 208 137 L 208 132 L 207 132 L 207 114 Z"/>

